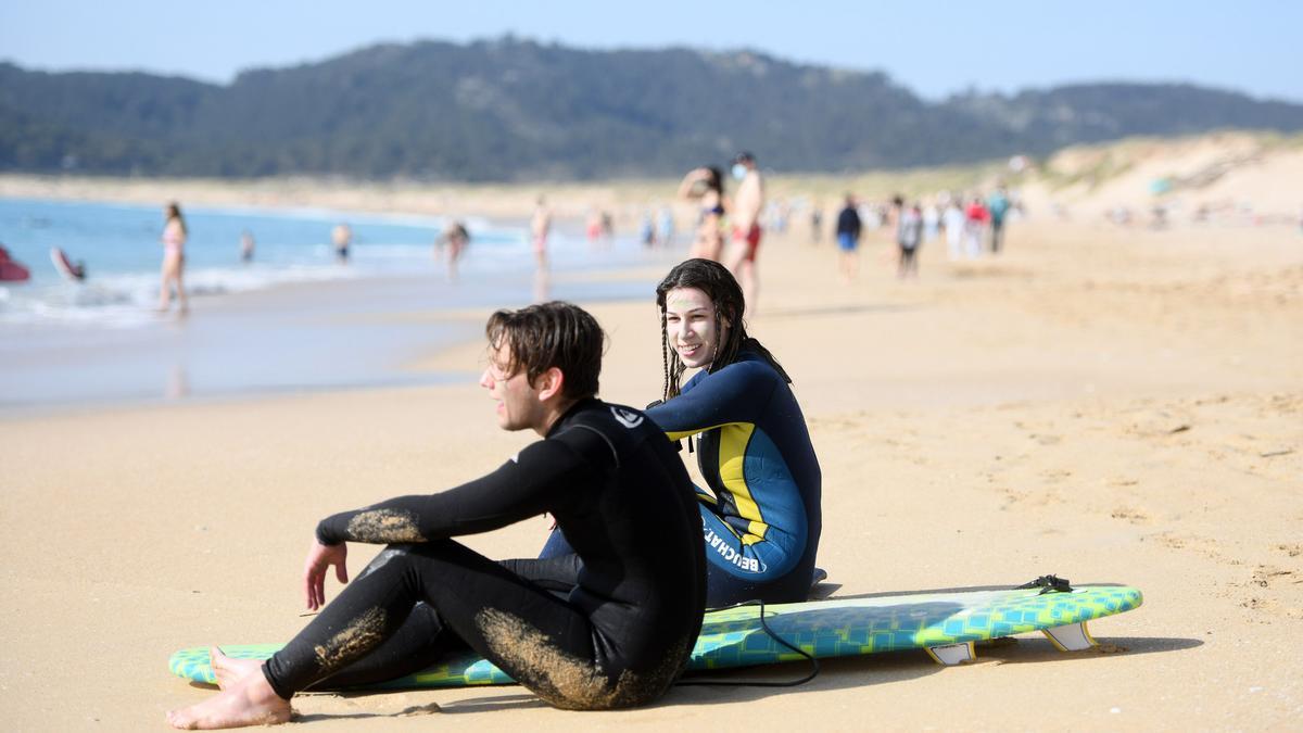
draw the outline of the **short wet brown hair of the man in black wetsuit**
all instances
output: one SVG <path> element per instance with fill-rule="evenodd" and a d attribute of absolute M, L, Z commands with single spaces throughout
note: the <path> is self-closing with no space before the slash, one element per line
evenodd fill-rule
<path fill-rule="evenodd" d="M 566 376 L 563 396 L 597 395 L 606 334 L 597 318 L 579 305 L 554 300 L 519 310 L 498 310 L 489 317 L 485 335 L 495 351 L 507 347 L 511 363 L 499 366 L 508 378 L 524 370 L 533 385 L 539 374 L 556 366 Z"/>

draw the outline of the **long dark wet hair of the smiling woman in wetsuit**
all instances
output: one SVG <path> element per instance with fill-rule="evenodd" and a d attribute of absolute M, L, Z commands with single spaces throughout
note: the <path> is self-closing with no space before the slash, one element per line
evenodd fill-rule
<path fill-rule="evenodd" d="M 743 314 L 747 312 L 747 300 L 743 296 L 741 286 L 727 267 L 713 260 L 684 260 L 674 266 L 670 274 L 655 287 L 655 304 L 661 309 L 661 361 L 665 376 L 665 399 L 679 395 L 679 381 L 687 365 L 679 359 L 679 352 L 670 348 L 670 333 L 666 323 L 666 296 L 675 288 L 696 288 L 706 293 L 715 310 L 715 334 L 723 334 L 723 339 L 715 343 L 715 356 L 708 366 L 709 372 L 718 372 L 737 360 L 737 353 L 747 348 L 758 353 L 767 361 L 783 380 L 792 380 L 783 370 L 774 355 L 761 343 L 747 335 L 747 325 Z M 727 323 L 727 333 L 724 325 Z"/>

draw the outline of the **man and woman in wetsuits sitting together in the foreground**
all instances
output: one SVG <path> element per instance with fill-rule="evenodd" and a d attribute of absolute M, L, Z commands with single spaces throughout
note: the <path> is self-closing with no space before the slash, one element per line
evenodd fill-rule
<path fill-rule="evenodd" d="M 468 650 L 559 708 L 641 706 L 685 668 L 705 609 L 805 600 L 821 473 L 791 377 L 748 334 L 743 288 L 719 262 L 676 265 L 655 303 L 661 399 L 645 411 L 598 399 L 605 337 L 581 308 L 494 313 L 480 385 L 499 428 L 541 440 L 460 486 L 322 519 L 302 575 L 321 613 L 266 663 L 214 647 L 222 691 L 168 721 L 284 723 L 301 691 Z M 536 558 L 494 561 L 453 539 L 543 513 L 555 530 Z M 349 543 L 384 549 L 327 604 L 326 576 L 348 582 Z"/>

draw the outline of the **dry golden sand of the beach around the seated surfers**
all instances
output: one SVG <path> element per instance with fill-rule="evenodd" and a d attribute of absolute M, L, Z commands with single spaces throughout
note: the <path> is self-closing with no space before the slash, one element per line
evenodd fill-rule
<path fill-rule="evenodd" d="M 821 459 L 820 565 L 838 596 L 1050 573 L 1141 588 L 1140 609 L 1092 623 L 1098 648 L 1023 636 L 958 668 L 923 652 L 837 660 L 800 687 L 680 687 L 624 712 L 563 712 L 509 686 L 304 695 L 297 724 L 1303 725 L 1296 226 L 1037 217 L 1011 226 L 998 260 L 947 262 L 932 243 L 917 283 L 895 279 L 886 236 L 864 244 L 850 286 L 804 228 L 761 252 L 751 331 L 794 377 Z M 610 334 L 602 395 L 654 399 L 650 293 L 584 305 Z M 487 313 L 392 317 L 473 327 Z M 472 340 L 410 365 L 465 376 L 438 386 L 0 416 L 4 726 L 162 730 L 164 711 L 210 694 L 167 672 L 173 650 L 291 636 L 321 516 L 455 485 L 533 440 L 495 428 L 481 364 Z M 546 531 L 539 518 L 468 544 L 524 556 Z"/>

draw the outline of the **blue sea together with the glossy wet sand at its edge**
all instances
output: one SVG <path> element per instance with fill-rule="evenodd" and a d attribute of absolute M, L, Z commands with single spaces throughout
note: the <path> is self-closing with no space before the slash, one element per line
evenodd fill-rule
<path fill-rule="evenodd" d="M 546 279 L 524 226 L 468 219 L 472 243 L 448 278 L 437 217 L 334 210 L 185 207 L 190 314 L 155 313 L 162 207 L 0 200 L 0 244 L 31 271 L 0 283 L 0 408 L 430 383 L 468 374 L 410 369 L 482 322 L 430 313 L 584 303 L 650 293 L 603 270 L 668 262 L 629 239 L 594 250 L 564 230 Z M 347 262 L 331 230 L 353 232 Z M 251 262 L 240 239 L 255 241 Z M 81 261 L 65 279 L 52 248 Z M 175 308 L 173 303 L 173 308 Z M 468 372 L 474 365 L 466 365 Z"/>

